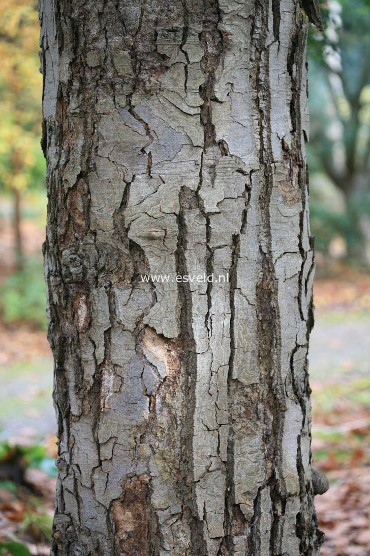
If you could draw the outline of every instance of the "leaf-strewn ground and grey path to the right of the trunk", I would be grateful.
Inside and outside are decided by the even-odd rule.
[[[370,280],[348,272],[314,287],[312,452],[330,480],[315,498],[321,554],[369,556]]]

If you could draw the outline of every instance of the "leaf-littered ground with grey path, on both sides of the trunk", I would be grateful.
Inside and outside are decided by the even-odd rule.
[[[26,252],[39,252],[42,227],[31,217],[22,226]],[[8,261],[0,285],[12,269],[11,237],[0,226],[0,261]],[[370,277],[342,267],[339,276],[315,282],[312,451],[330,480],[316,510],[322,556],[369,556]],[[0,320],[0,548],[4,538],[21,538],[34,556],[48,554],[53,513],[52,375],[45,332]]]

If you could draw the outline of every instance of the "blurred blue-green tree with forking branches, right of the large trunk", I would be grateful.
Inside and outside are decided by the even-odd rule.
[[[322,246],[344,236],[349,257],[370,260],[370,3],[331,0],[323,9],[326,31],[309,41],[311,155],[341,193],[344,214],[315,204]]]

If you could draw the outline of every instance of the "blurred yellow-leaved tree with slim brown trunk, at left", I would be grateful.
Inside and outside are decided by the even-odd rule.
[[[42,77],[37,57],[37,2],[0,2],[0,188],[11,193],[18,269],[23,266],[21,198],[43,186],[39,148]]]

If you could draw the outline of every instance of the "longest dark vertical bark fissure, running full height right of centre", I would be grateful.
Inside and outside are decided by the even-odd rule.
[[[261,6],[262,8],[262,6]],[[273,187],[273,155],[271,146],[271,98],[269,83],[269,52],[263,49],[268,28],[268,6],[261,13],[259,2],[255,3],[256,19],[251,31],[252,59],[256,68],[256,109],[259,113],[260,130],[260,169],[262,186],[259,197],[263,228],[260,235],[260,281],[256,287],[256,312],[258,326],[258,345],[260,362],[260,380],[267,386],[266,393],[260,392],[260,400],[265,408],[263,444],[267,461],[272,462],[272,469],[267,471],[272,476],[282,476],[281,442],[285,420],[285,393],[281,386],[281,335],[280,315],[278,311],[277,281],[272,255],[272,236],[270,226],[270,199]],[[275,6],[276,8],[276,6]],[[278,17],[275,9],[275,27],[277,32]],[[277,37],[276,37],[277,38]],[[263,78],[261,72],[263,71]],[[278,481],[279,488],[271,489],[272,530],[270,537],[271,554],[279,554],[281,544],[281,512],[285,506],[284,486]],[[254,514],[256,519],[256,515]],[[257,549],[257,547],[256,547]]]

